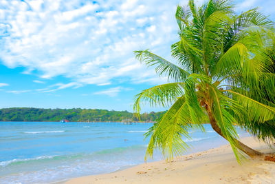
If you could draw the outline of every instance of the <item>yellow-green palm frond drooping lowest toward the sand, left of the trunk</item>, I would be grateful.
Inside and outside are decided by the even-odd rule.
[[[148,143],[145,160],[148,156],[153,158],[153,150],[157,147],[170,161],[174,156],[184,153],[189,147],[182,140],[182,136],[190,139],[188,135],[188,127],[192,127],[190,122],[185,97],[181,96],[162,119],[146,133],[146,137],[151,136],[151,139]]]

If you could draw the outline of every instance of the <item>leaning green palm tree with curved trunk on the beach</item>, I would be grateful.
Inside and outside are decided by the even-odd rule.
[[[245,154],[262,156],[238,141],[234,124],[265,141],[275,137],[275,104],[267,100],[275,92],[272,21],[256,9],[237,15],[226,0],[201,7],[190,0],[188,7],[177,7],[175,17],[179,41],[171,52],[177,63],[149,50],[135,51],[137,59],[169,81],[135,96],[137,114],[143,101],[170,107],[146,133],[151,136],[146,157],[153,157],[156,147],[168,159],[182,154],[188,148],[182,136],[190,138],[190,128],[204,131],[206,119],[230,143],[237,161]]]

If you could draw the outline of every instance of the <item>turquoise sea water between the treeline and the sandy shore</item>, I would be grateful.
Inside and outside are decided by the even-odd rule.
[[[0,183],[50,183],[144,163],[152,123],[0,123]],[[190,130],[192,150],[226,143],[210,125]],[[238,130],[240,136],[245,132]],[[159,152],[154,161],[163,159]]]

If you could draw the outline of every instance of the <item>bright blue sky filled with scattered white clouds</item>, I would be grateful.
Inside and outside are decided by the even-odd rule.
[[[201,5],[202,0],[195,1]],[[275,21],[274,0],[233,1]],[[166,83],[135,59],[169,61],[175,10],[188,0],[0,0],[0,108],[98,108],[133,112],[135,94]],[[144,105],[144,112],[160,111]]]

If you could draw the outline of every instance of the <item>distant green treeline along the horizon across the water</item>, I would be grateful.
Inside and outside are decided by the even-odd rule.
[[[140,116],[140,121],[158,121],[165,112],[150,112]],[[40,108],[3,108],[0,121],[139,121],[128,111],[98,109],[40,109]]]

